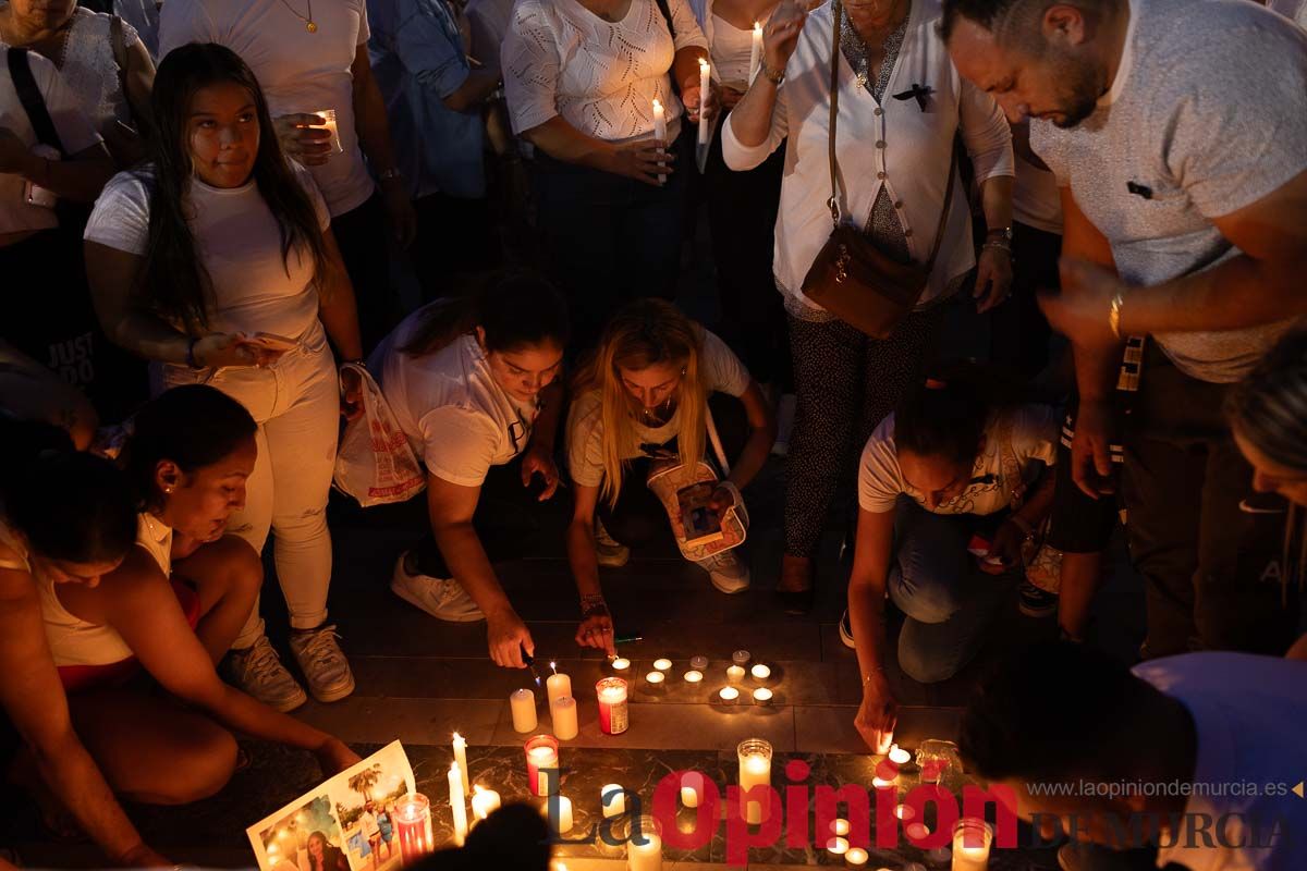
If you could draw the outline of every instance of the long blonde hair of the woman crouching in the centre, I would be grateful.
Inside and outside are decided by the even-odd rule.
[[[622,445],[639,443],[631,402],[620,370],[647,370],[660,363],[680,364],[677,388],[677,452],[682,464],[703,458],[708,392],[701,358],[703,330],[681,309],[661,299],[640,299],[613,316],[578,377],[578,393],[600,392],[604,441],[604,483],[600,496],[609,507],[622,491]]]

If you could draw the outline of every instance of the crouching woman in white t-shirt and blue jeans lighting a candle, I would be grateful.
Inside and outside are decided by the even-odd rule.
[[[856,725],[876,752],[894,729],[885,675],[885,592],[907,620],[898,662],[914,680],[954,675],[975,656],[1017,580],[1021,547],[1052,508],[1057,410],[978,367],[927,381],[872,434],[857,475],[857,546],[840,637],[857,650]],[[1029,495],[1027,495],[1029,491]],[[974,537],[987,552],[972,556]]]

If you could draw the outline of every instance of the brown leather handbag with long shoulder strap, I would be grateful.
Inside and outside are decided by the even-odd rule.
[[[839,168],[835,162],[835,119],[839,114],[839,30],[843,5],[833,5],[835,31],[830,55],[830,217],[834,222],[830,239],[817,253],[802,291],[831,315],[873,338],[887,338],[901,320],[916,307],[925,291],[935,257],[940,253],[944,225],[953,202],[953,159],[949,159],[949,183],[944,195],[940,226],[935,245],[924,264],[901,262],[876,247],[860,229],[840,223]]]

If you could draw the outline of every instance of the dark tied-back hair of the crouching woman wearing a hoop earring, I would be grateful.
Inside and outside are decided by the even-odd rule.
[[[229,457],[259,431],[246,407],[217,388],[183,384],[165,390],[133,418],[127,444],[127,475],[136,498],[158,508],[154,473],[171,460],[186,474]]]

